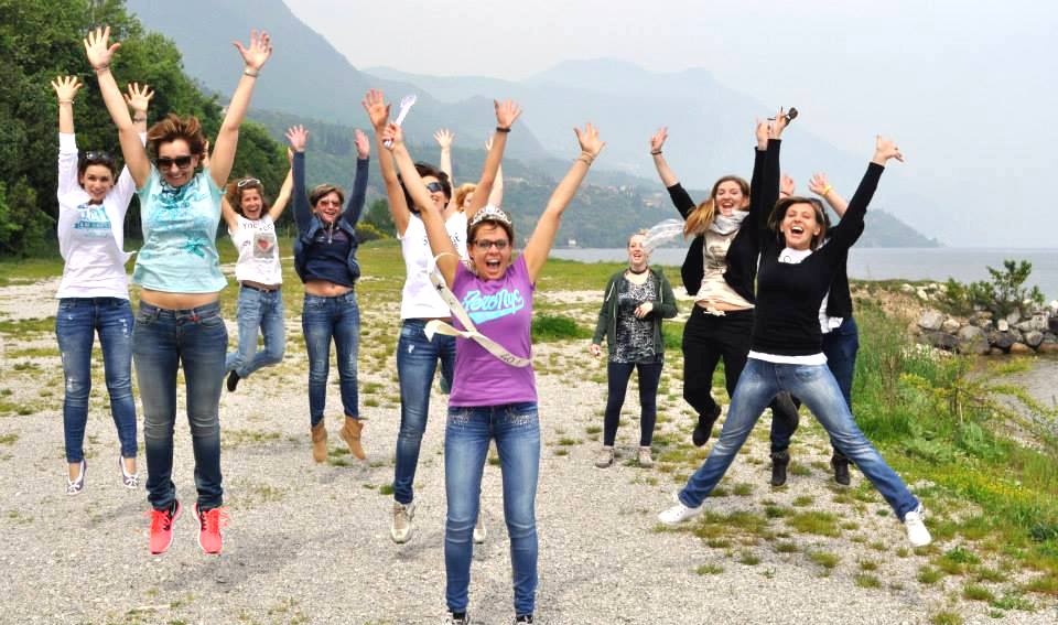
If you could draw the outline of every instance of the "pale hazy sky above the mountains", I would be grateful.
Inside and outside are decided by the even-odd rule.
[[[284,1],[358,68],[519,79],[568,58],[703,67],[811,111],[803,125],[864,158],[874,133],[896,137],[903,175],[965,206],[958,235],[930,233],[946,243],[1058,248],[1055,2]]]

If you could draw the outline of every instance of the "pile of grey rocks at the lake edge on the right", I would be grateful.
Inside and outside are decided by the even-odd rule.
[[[926,302],[942,301],[943,285],[929,284],[902,290]],[[962,354],[1058,354],[1058,300],[1048,305],[1024,302],[1022,310],[997,316],[979,310],[967,316],[927,305],[911,324],[919,343]]]

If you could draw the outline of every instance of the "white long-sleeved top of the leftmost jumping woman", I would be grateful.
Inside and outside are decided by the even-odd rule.
[[[76,138],[58,134],[58,250],[66,263],[56,298],[129,299],[125,263],[132,254],[123,250],[125,214],[134,193],[125,168],[102,204],[90,204],[77,181]]]

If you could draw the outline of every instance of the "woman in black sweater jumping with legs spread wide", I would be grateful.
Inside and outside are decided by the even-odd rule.
[[[876,139],[874,157],[849,202],[842,229],[821,246],[827,223],[818,200],[791,196],[775,204],[779,186],[779,141],[775,137],[768,141],[762,184],[765,191],[754,196],[751,206],[760,245],[753,348],[720,440],[679,493],[676,506],[658,518],[674,525],[704,510],[705,498],[731,466],[767,402],[785,390],[808,406],[838,450],[871,479],[904,522],[911,546],[929,545],[922,505],[856,427],[841,388],[827,368],[819,322],[820,305],[849,248],[862,233],[867,204],[885,164],[890,159],[903,161],[904,157],[893,141]],[[775,209],[769,211],[773,205]]]

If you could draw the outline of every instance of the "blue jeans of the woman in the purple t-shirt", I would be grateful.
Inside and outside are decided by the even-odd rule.
[[[536,403],[482,408],[449,407],[444,431],[445,601],[466,612],[474,554],[474,524],[482,493],[488,442],[496,439],[504,479],[504,519],[510,536],[515,613],[530,614],[537,593],[537,476],[540,472],[540,421]]]

